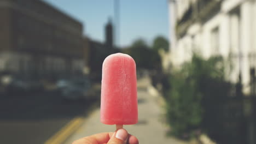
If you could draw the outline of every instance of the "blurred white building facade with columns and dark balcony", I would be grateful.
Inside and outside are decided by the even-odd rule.
[[[250,68],[256,66],[255,0],[169,0],[171,63],[190,61],[193,51],[205,58],[222,55],[233,65],[228,79],[249,93]]]

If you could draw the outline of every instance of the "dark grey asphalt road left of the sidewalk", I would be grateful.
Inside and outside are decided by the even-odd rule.
[[[54,92],[2,97],[0,143],[44,143],[75,116],[86,116],[92,103],[68,103]]]

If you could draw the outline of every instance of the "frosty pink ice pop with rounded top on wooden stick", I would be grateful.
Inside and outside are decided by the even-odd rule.
[[[102,65],[101,122],[138,122],[136,64],[124,53],[109,55]]]

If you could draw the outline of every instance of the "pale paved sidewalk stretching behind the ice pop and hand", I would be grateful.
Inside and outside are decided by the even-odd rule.
[[[135,125],[124,125],[129,133],[135,135],[139,143],[183,143],[166,137],[167,127],[162,123],[163,110],[156,103],[156,97],[148,92],[148,79],[138,81],[138,117]],[[65,143],[71,144],[74,140],[96,133],[115,131],[115,125],[105,125],[100,122],[100,108],[94,110],[82,126]]]

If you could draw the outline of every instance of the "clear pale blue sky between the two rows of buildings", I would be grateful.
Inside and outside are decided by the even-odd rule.
[[[104,25],[114,18],[114,0],[44,0],[84,25],[84,34],[104,41]],[[157,35],[168,38],[167,0],[120,0],[121,46],[143,38],[151,44]]]

